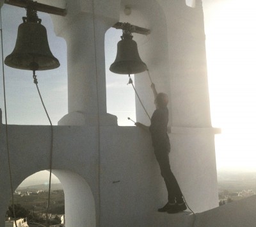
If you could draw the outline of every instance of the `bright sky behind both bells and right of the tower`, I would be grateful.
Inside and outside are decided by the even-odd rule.
[[[203,4],[212,126],[223,130],[216,136],[217,167],[256,169],[256,3],[203,0]],[[25,14],[24,9],[14,6],[4,4],[2,8],[4,58],[13,51],[17,27]],[[67,47],[62,38],[54,35],[49,15],[38,16],[47,27],[51,51],[61,63],[60,68],[37,73],[45,106],[56,125],[67,114]],[[116,29],[112,32],[117,35],[106,34],[106,68],[115,60],[109,53],[116,52],[121,35]],[[8,123],[48,125],[31,72],[10,67],[4,70]],[[135,119],[134,91],[127,86],[128,78],[109,70],[106,73],[108,112],[118,116],[119,125],[133,125],[127,120],[128,116]],[[0,76],[3,81],[3,75]],[[3,82],[0,108],[4,111]]]

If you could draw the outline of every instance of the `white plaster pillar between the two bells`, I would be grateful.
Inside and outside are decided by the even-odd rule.
[[[67,42],[68,114],[59,125],[116,125],[106,113],[104,35],[118,21],[118,4],[68,1],[67,16],[52,16]],[[99,118],[98,118],[99,116]]]

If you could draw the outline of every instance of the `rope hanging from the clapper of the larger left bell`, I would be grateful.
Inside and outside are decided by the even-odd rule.
[[[51,178],[52,178],[52,153],[53,153],[53,127],[52,127],[52,121],[51,118],[49,117],[49,114],[47,112],[47,109],[45,108],[44,101],[42,99],[40,90],[38,88],[38,81],[36,79],[35,71],[33,71],[33,79],[34,83],[36,84],[36,89],[38,91],[38,95],[40,97],[40,100],[42,102],[42,105],[44,107],[44,111],[47,115],[47,118],[49,120],[49,123],[51,125],[51,152],[50,152],[50,176],[49,176],[49,191],[48,191],[48,202],[47,202],[47,209],[46,209],[46,226],[49,227],[49,218],[48,218],[48,213],[49,213],[49,207],[50,207],[50,201],[51,201]]]

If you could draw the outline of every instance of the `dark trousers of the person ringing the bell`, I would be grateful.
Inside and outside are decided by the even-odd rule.
[[[166,189],[168,191],[168,201],[170,203],[177,201],[177,203],[182,203],[182,192],[180,191],[179,184],[173,175],[170,167],[170,160],[168,151],[165,149],[156,149],[154,150],[157,162],[159,163],[161,175],[164,178],[166,184]]]

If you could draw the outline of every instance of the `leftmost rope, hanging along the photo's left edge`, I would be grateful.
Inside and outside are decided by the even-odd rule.
[[[7,149],[7,157],[8,157],[7,159],[8,159],[9,175],[10,175],[10,186],[11,186],[11,192],[12,192],[12,211],[13,211],[15,227],[17,227],[15,208],[14,208],[13,184],[12,184],[12,169],[11,169],[11,163],[10,163],[10,149],[9,149],[9,138],[8,138],[8,121],[7,121],[6,90],[5,90],[5,77],[4,77],[3,27],[2,27],[1,6],[0,6],[0,30],[1,30],[1,48],[2,48],[1,54],[2,54],[2,70],[3,70],[3,90],[4,90],[4,115],[5,115],[6,149]]]

